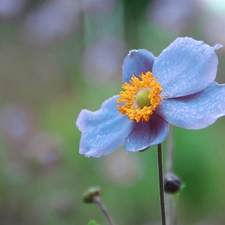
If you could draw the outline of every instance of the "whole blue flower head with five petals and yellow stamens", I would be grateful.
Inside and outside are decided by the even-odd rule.
[[[80,112],[79,152],[101,157],[122,145],[127,152],[143,151],[162,143],[169,124],[197,130],[224,116],[225,84],[214,81],[221,47],[184,37],[158,57],[131,50],[123,64],[124,91],[96,112]]]

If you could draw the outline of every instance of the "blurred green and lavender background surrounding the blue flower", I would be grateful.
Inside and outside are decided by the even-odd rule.
[[[106,224],[82,202],[95,185],[118,225],[159,224],[155,147],[85,158],[75,121],[120,91],[130,49],[158,56],[177,36],[225,45],[224,27],[223,0],[0,0],[0,224]],[[225,224],[224,126],[175,128],[179,224]]]

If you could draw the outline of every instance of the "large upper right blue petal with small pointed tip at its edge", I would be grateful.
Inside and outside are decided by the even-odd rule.
[[[177,38],[155,60],[153,76],[169,98],[186,96],[204,90],[217,73],[216,49],[192,38]]]

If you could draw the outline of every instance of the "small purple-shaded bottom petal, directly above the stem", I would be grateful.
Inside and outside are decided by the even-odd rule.
[[[127,152],[146,150],[152,145],[162,143],[169,130],[169,124],[157,114],[153,114],[149,122],[139,122],[127,137]]]

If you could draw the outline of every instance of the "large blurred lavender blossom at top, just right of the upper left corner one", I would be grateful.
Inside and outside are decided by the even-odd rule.
[[[79,23],[79,0],[48,0],[30,12],[23,31],[28,39],[45,43],[66,37]]]

